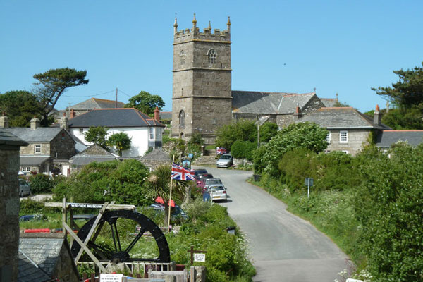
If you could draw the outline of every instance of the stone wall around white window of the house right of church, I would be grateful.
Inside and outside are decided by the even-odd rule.
[[[355,156],[365,145],[369,144],[370,130],[329,130],[331,132],[331,143],[326,151],[346,151]],[[348,142],[340,142],[340,131],[348,131]]]

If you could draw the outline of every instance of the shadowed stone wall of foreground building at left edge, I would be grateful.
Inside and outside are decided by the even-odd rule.
[[[19,244],[19,147],[0,145],[0,281],[17,281]]]

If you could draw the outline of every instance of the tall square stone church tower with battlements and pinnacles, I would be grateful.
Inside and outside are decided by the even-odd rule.
[[[231,21],[227,30],[200,32],[197,20],[192,29],[178,31],[173,39],[172,137],[189,140],[200,133],[213,144],[216,129],[232,120]]]

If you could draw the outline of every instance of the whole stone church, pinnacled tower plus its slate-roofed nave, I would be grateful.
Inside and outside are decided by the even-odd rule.
[[[325,104],[315,92],[249,92],[232,90],[231,20],[226,30],[178,30],[173,37],[173,103],[171,136],[189,140],[200,133],[214,144],[216,130],[233,120],[271,121],[283,128]]]

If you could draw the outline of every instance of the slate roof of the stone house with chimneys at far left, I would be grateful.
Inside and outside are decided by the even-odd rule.
[[[50,142],[56,137],[62,128],[3,128],[3,130],[18,136],[27,142]]]

